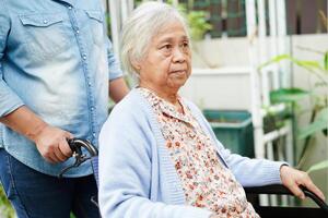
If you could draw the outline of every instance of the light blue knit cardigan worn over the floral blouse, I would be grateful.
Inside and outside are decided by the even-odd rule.
[[[282,162],[233,155],[216,141],[201,111],[184,99],[218,155],[243,186],[281,183]],[[99,208],[104,218],[208,218],[211,211],[186,205],[155,114],[132,89],[112,111],[99,136]]]

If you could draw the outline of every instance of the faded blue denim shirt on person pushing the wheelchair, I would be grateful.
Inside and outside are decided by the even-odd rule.
[[[0,0],[0,117],[25,105],[50,125],[97,145],[108,80],[122,76],[101,0]],[[57,175],[33,142],[0,126],[0,145],[26,166]],[[90,162],[67,177],[92,172]]]

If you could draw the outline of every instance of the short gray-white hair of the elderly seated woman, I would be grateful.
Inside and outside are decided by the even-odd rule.
[[[138,74],[132,61],[142,60],[152,38],[172,22],[180,22],[189,38],[184,16],[169,4],[145,2],[132,12],[124,24],[120,40],[121,63],[127,72]]]

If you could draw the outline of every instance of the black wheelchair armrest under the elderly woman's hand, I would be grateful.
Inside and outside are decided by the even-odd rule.
[[[271,184],[265,186],[255,186],[255,187],[244,187],[247,194],[284,194],[284,195],[294,195],[289,189],[282,184]],[[301,186],[305,196],[312,198],[321,209],[328,213],[328,205],[319,198],[315,193],[307,190],[304,186]]]

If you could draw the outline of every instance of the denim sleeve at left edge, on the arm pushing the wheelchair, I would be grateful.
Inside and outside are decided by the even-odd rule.
[[[3,57],[7,47],[8,34],[10,32],[10,19],[5,2],[0,0],[0,117],[7,116],[21,107],[23,101],[7,85],[3,74]]]

